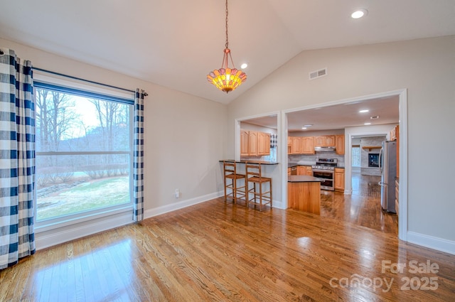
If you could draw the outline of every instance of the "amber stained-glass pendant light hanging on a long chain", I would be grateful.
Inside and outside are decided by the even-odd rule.
[[[228,67],[228,59],[232,63],[232,68]],[[230,92],[239,87],[242,82],[247,80],[247,75],[242,70],[237,70],[232,61],[228,41],[228,0],[226,0],[226,48],[223,55],[223,63],[220,69],[215,69],[207,75],[208,82],[212,83],[223,92]]]

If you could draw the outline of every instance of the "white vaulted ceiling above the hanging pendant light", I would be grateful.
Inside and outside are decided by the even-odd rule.
[[[1,38],[223,104],[302,50],[455,34],[454,0],[230,0],[232,58],[249,67],[245,84],[226,95],[206,80],[223,58],[223,0],[0,0],[0,7]],[[368,16],[350,18],[358,8]]]

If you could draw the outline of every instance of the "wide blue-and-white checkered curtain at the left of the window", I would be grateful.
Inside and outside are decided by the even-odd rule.
[[[35,101],[31,62],[0,48],[0,269],[35,253]]]

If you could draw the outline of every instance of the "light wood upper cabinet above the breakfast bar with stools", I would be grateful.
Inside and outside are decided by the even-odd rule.
[[[270,154],[270,134],[240,130],[240,156],[264,156]]]

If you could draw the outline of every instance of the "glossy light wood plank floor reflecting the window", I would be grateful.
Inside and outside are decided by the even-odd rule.
[[[0,301],[454,301],[455,256],[344,207],[353,222],[217,198],[38,251],[0,271]]]

